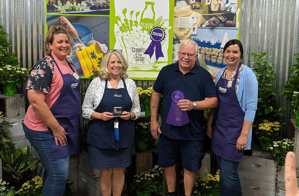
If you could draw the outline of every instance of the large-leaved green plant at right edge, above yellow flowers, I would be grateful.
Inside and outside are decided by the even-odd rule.
[[[299,127],[299,103],[298,103],[298,92],[299,92],[299,53],[294,54],[296,64],[292,65],[290,70],[290,77],[282,86],[281,95],[285,96],[284,102],[289,101],[289,108],[295,113],[296,126]],[[295,95],[296,94],[296,95]]]

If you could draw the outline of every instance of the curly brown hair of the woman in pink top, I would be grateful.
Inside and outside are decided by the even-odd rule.
[[[69,55],[71,54],[71,49],[72,47],[74,46],[74,40],[71,39],[70,35],[68,34],[67,30],[61,26],[61,25],[56,25],[56,26],[51,26],[49,29],[48,29],[48,32],[47,32],[47,35],[46,35],[46,38],[45,38],[45,42],[44,42],[44,51],[47,55],[51,55],[51,52],[52,50],[50,49],[49,47],[49,43],[53,43],[54,41],[54,36],[57,35],[57,34],[66,34],[69,41],[70,41],[70,45],[71,45],[71,48],[70,48],[70,53]]]

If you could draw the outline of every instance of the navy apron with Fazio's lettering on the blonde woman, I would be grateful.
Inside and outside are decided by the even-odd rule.
[[[113,107],[123,107],[123,111],[130,112],[132,109],[132,100],[128,94],[126,83],[124,88],[107,88],[107,80],[103,98],[95,109],[96,112],[111,112]],[[114,121],[118,121],[119,141],[114,135]],[[127,148],[133,144],[134,122],[133,120],[124,120],[121,117],[114,117],[110,120],[92,119],[89,121],[87,143],[92,146],[103,149]]]

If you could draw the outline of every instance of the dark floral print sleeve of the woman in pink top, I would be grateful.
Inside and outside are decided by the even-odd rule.
[[[49,87],[54,74],[54,62],[49,58],[39,60],[32,67],[27,77],[26,90],[38,89],[49,94]]]

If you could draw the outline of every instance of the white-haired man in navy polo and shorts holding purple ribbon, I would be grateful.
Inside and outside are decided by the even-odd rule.
[[[179,155],[184,168],[185,195],[191,196],[195,172],[200,169],[204,158],[204,110],[217,107],[218,98],[211,74],[196,64],[197,44],[194,41],[186,39],[181,42],[178,58],[177,63],[161,69],[153,86],[150,130],[155,139],[158,138],[158,132],[161,133],[158,144],[158,165],[164,167],[169,196],[177,195],[175,164]],[[172,100],[174,92],[184,94],[184,99],[175,103]],[[160,128],[157,111],[162,94]],[[182,113],[187,113],[189,123],[185,122],[187,123],[185,124],[186,119],[184,119],[182,126],[169,124],[167,119],[175,116],[171,109],[172,102]],[[179,121],[180,118],[174,118],[175,120]]]

